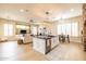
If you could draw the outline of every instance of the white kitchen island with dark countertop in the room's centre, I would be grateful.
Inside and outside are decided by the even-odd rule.
[[[42,54],[50,52],[57,44],[57,36],[33,36],[33,49]]]

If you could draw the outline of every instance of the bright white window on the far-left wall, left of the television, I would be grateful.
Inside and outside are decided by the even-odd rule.
[[[13,35],[13,25],[4,24],[4,36],[12,36],[12,35]]]

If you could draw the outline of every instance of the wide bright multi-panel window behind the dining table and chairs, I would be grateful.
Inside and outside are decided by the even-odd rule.
[[[64,34],[77,37],[78,36],[78,23],[67,23],[58,25],[58,35]]]

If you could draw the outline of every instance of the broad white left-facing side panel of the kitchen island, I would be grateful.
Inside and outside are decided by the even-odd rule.
[[[33,49],[45,54],[46,53],[46,40],[33,37]]]

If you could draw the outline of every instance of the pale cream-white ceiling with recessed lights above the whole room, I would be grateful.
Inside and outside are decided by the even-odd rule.
[[[81,3],[2,3],[0,4],[0,17],[21,22],[58,21],[82,15],[82,5]],[[27,12],[21,12],[21,9]],[[49,12],[49,15],[46,15],[46,12]]]

